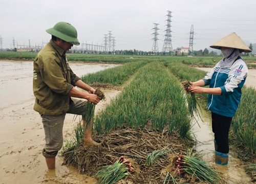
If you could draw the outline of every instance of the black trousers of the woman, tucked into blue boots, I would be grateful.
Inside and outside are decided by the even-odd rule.
[[[228,132],[232,118],[221,116],[217,113],[211,112],[211,126],[214,132],[215,141],[218,145],[218,152],[228,153]]]

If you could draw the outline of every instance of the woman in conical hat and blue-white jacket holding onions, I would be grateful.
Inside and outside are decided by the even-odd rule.
[[[241,53],[251,50],[236,33],[227,35],[210,47],[220,49],[224,58],[203,79],[193,82],[189,89],[192,93],[209,94],[208,109],[211,111],[215,136],[215,162],[227,165],[229,127],[241,100],[241,88],[248,73]],[[209,88],[202,87],[206,85]]]

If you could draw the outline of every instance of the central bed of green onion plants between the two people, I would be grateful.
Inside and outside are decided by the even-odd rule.
[[[151,123],[154,130],[167,128],[170,134],[177,131],[184,138],[190,119],[182,90],[177,78],[162,63],[148,63],[118,98],[96,116],[96,131],[109,132],[124,125],[139,129]]]

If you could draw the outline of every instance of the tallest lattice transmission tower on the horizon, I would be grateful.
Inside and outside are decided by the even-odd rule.
[[[169,51],[173,51],[173,45],[172,45],[172,35],[170,34],[172,31],[170,30],[170,22],[172,22],[172,20],[170,19],[172,17],[172,13],[171,11],[167,11],[168,14],[167,16],[167,25],[166,25],[166,30],[165,30],[165,38],[164,38],[164,43],[163,43],[163,49],[162,52],[167,53]]]

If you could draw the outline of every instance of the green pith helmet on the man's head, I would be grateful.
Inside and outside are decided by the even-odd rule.
[[[80,44],[75,27],[68,22],[58,22],[53,28],[47,29],[46,32],[74,45]]]

